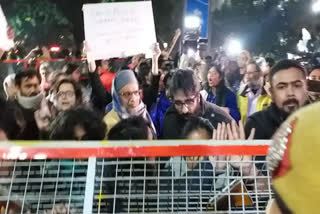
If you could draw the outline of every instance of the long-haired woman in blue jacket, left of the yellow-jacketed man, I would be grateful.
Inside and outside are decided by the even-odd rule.
[[[237,106],[237,96],[226,86],[224,74],[218,66],[212,66],[208,72],[208,86],[200,93],[202,97],[220,106],[227,114],[230,114],[236,121],[240,120],[240,112]]]

